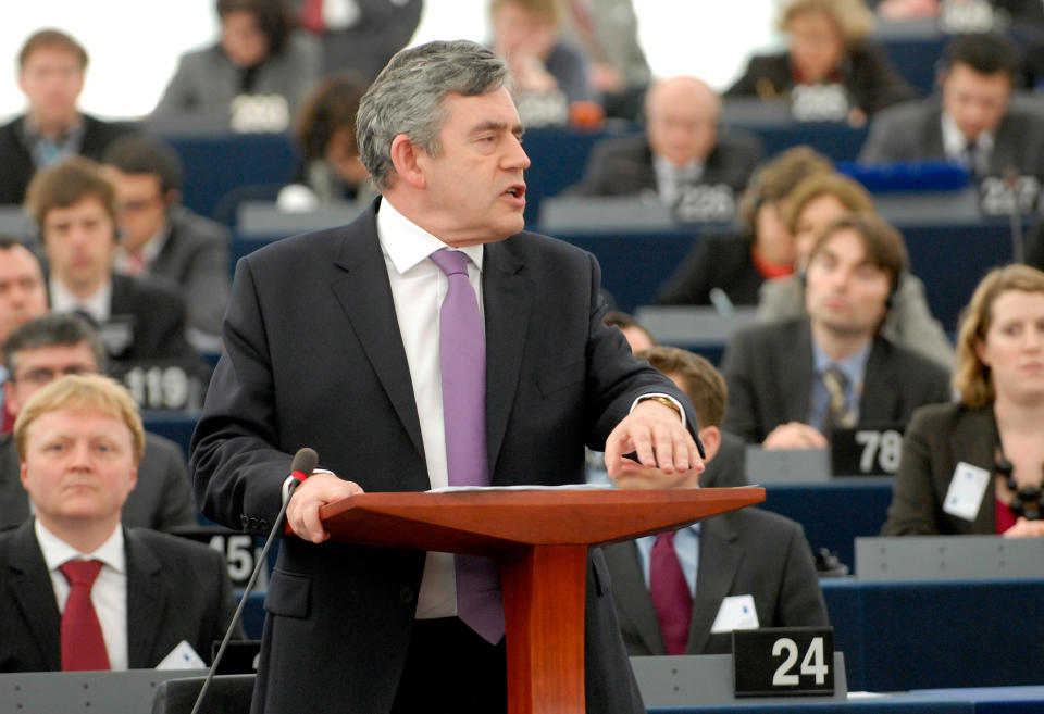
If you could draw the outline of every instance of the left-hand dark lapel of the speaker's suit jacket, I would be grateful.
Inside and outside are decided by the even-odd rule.
[[[333,285],[337,300],[359,337],[370,365],[376,373],[418,453],[424,454],[421,423],[413,400],[410,366],[395,315],[388,270],[377,240],[376,213],[347,228],[336,264],[345,276]]]

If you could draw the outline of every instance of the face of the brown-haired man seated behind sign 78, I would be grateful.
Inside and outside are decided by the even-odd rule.
[[[805,303],[813,325],[846,337],[874,334],[884,317],[888,275],[870,262],[862,237],[834,233],[809,260]]]

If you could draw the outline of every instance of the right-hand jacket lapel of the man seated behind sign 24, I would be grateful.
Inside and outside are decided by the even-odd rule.
[[[696,567],[696,597],[693,598],[693,624],[688,630],[688,654],[700,654],[710,639],[710,628],[722,599],[743,560],[743,549],[734,546],[736,531],[723,518],[707,518],[699,528],[699,564]]]

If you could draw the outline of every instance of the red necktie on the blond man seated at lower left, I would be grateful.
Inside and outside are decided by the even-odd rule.
[[[101,571],[101,561],[69,561],[59,569],[70,585],[62,613],[62,672],[109,669],[101,624],[90,602],[90,588]]]

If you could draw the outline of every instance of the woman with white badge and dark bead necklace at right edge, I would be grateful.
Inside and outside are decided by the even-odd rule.
[[[1044,273],[991,271],[957,337],[960,401],[917,410],[882,535],[1044,536]]]

